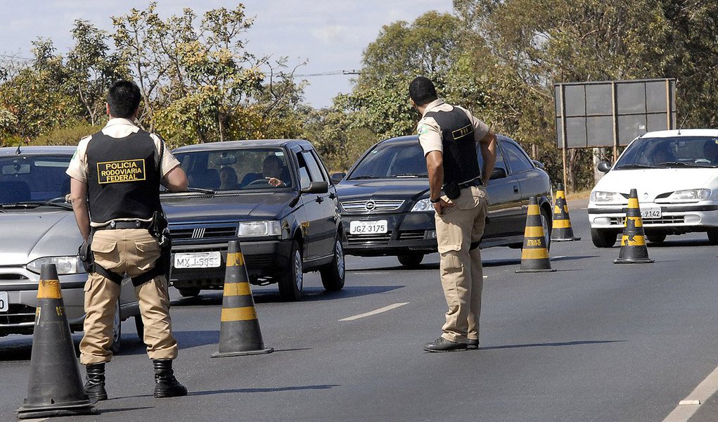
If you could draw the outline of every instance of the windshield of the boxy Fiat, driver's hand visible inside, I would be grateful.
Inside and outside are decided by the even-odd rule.
[[[190,188],[220,192],[293,186],[283,149],[177,151],[174,156],[180,160],[180,166],[187,173]]]

